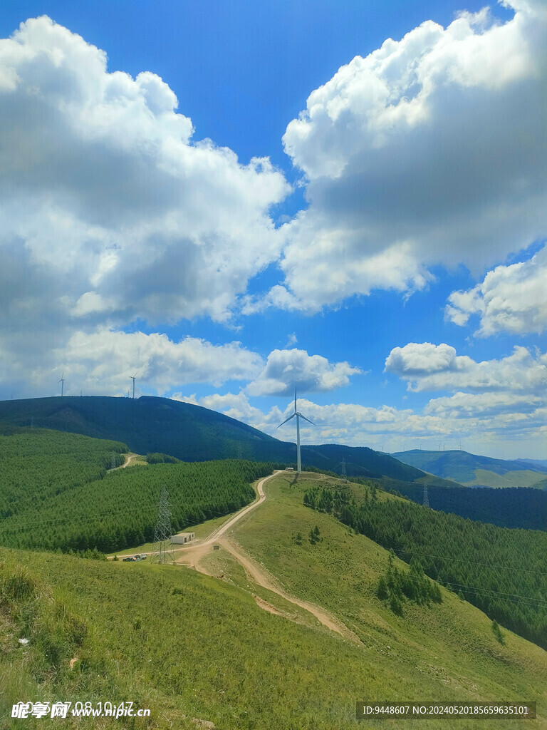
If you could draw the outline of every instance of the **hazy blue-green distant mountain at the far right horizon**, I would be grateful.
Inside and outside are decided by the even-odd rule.
[[[403,464],[422,469],[468,487],[535,487],[547,485],[547,461],[476,456],[467,451],[399,451],[392,456]]]

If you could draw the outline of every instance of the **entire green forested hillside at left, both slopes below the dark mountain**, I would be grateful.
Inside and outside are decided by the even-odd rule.
[[[163,485],[176,531],[235,512],[273,464],[242,460],[113,469],[119,442],[26,429],[0,437],[0,545],[103,552],[150,542]]]

